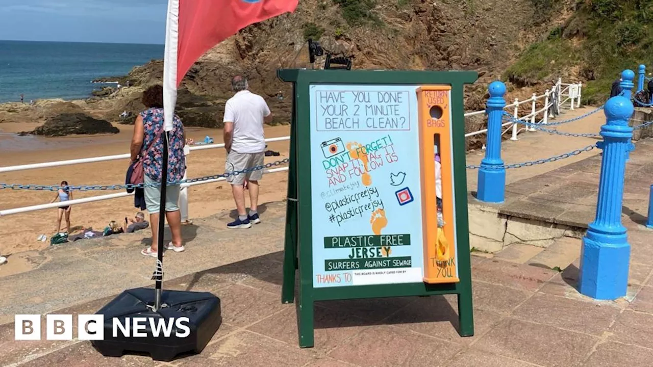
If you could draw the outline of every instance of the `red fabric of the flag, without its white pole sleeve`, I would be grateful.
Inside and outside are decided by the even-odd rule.
[[[204,52],[247,25],[293,12],[298,0],[181,0],[177,86]]]

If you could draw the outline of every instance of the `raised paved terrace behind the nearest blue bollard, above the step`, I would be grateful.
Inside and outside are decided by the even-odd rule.
[[[587,228],[596,214],[601,155],[593,155],[545,174],[509,183],[518,195],[498,206],[500,214]],[[642,225],[653,184],[653,139],[639,140],[626,163],[624,222]]]

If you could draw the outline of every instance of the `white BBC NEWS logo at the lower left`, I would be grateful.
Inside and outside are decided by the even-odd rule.
[[[104,340],[104,315],[78,315],[78,340]],[[188,317],[163,319],[160,317],[112,318],[112,337],[118,338],[186,338],[191,334]],[[151,334],[148,333],[148,326]],[[46,340],[72,340],[72,315],[46,315]],[[173,333],[174,330],[174,333]],[[15,340],[40,340],[41,315],[16,315]]]

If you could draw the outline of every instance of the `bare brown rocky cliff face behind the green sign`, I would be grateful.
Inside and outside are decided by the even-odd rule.
[[[321,32],[315,38],[325,50],[355,56],[355,69],[479,71],[479,82],[465,91],[467,110],[485,107],[487,83],[500,77],[520,48],[528,45],[523,39],[534,40],[549,26],[547,22],[532,25],[536,15],[532,0],[379,0],[371,11],[376,24],[351,25],[340,6],[305,0],[294,14],[251,25],[221,42],[182,81],[177,110],[184,124],[219,127],[221,119],[216,120],[215,114],[223,112],[223,104],[232,96],[229,81],[235,74],[246,75],[250,89],[266,98],[276,121],[288,123],[291,85],[278,80],[276,71],[311,68],[306,24],[319,25]],[[505,14],[511,14],[509,22],[496,22]],[[318,57],[315,67],[323,67],[324,59]],[[119,80],[146,88],[161,83],[162,75],[163,61],[153,60]],[[285,99],[277,98],[279,91]],[[182,93],[195,97],[184,102]]]

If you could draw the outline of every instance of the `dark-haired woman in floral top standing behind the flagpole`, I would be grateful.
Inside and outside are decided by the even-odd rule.
[[[161,165],[163,164],[163,87],[151,86],[143,92],[141,102],[148,108],[144,110],[134,123],[134,135],[131,142],[131,160],[136,161],[143,157],[143,176],[146,187],[144,188],[145,203],[150,212],[152,231],[152,244],[141,251],[141,255],[157,257],[159,234],[159,201],[161,200]],[[183,154],[185,135],[182,120],[174,116],[172,131],[168,135],[168,172],[167,182],[180,182],[186,171],[186,159]],[[165,212],[172,241],[165,248],[175,252],[184,250],[182,244],[182,219],[179,211],[180,185],[168,185],[166,189]],[[163,251],[163,250],[162,250]]]

